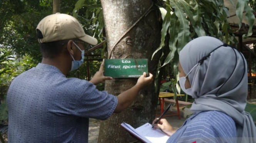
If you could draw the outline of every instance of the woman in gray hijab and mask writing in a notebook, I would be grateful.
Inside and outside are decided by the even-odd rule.
[[[214,37],[196,38],[181,50],[179,72],[181,89],[195,100],[194,114],[177,131],[165,119],[154,124],[171,136],[167,143],[256,143],[256,127],[244,111],[247,64],[238,50]]]

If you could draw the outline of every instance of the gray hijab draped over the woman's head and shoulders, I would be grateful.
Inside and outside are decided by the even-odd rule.
[[[221,45],[220,40],[203,36],[189,42],[179,54],[186,74],[198,64],[188,75],[195,99],[191,111],[224,112],[236,122],[238,143],[256,143],[256,127],[251,115],[244,111],[248,91],[246,60],[237,50]],[[202,64],[198,63],[205,56]]]

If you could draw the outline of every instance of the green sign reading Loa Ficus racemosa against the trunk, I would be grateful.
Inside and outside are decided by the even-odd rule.
[[[148,73],[147,59],[106,59],[105,76],[112,78],[138,78]]]

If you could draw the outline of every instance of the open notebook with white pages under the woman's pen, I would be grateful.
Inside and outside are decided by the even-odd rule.
[[[121,123],[121,126],[143,143],[166,143],[169,138],[169,136],[161,130],[154,130],[150,123],[145,123],[136,129],[125,122]]]

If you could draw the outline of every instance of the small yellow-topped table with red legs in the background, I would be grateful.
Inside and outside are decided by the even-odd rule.
[[[177,96],[185,96],[185,95],[184,94],[177,94]],[[168,92],[160,92],[159,93],[158,98],[159,98],[160,107],[161,107],[161,114],[164,112],[164,98],[169,98],[169,97],[174,97],[174,93],[168,93]],[[176,98],[176,106],[177,106],[177,113],[172,112],[172,114],[163,115],[163,117],[177,115],[179,117],[179,119],[181,119],[181,115],[180,115],[180,112],[179,112],[178,98]],[[160,116],[160,115],[157,115],[157,116]]]

